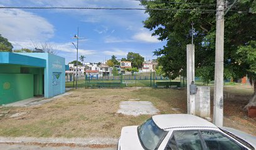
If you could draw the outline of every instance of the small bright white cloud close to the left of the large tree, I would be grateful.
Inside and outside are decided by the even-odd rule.
[[[155,36],[151,36],[151,33],[147,31],[139,32],[135,34],[132,38],[136,39],[137,41],[143,42],[161,42]]]

